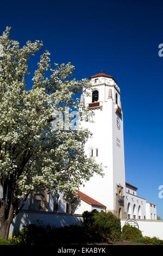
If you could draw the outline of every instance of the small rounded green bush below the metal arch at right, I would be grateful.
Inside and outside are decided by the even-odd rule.
[[[133,227],[129,224],[123,226],[122,228],[123,240],[139,239],[141,237],[142,237],[142,232],[138,228]]]

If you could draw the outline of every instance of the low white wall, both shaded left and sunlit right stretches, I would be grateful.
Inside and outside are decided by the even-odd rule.
[[[123,227],[125,222],[126,220],[121,220],[121,227]],[[139,229],[142,231],[143,236],[156,236],[163,240],[163,221],[136,220],[136,222],[139,224]],[[55,227],[64,227],[65,225],[70,224],[82,225],[83,217],[79,214],[55,214],[53,212],[35,212],[23,210],[12,221],[9,236],[14,234],[16,231],[21,230],[23,225],[30,223],[36,225],[51,224]]]

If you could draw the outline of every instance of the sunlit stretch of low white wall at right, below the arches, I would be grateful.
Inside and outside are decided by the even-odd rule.
[[[126,220],[121,220],[121,227],[123,227]],[[136,220],[139,224],[139,229],[143,236],[156,236],[163,240],[163,221],[155,220]]]

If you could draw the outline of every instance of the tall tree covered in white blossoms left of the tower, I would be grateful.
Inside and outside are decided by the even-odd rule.
[[[70,63],[55,64],[52,69],[45,51],[37,63],[32,89],[27,90],[27,61],[42,42],[27,41],[20,48],[9,32],[7,27],[0,37],[0,221],[4,239],[30,192],[64,192],[68,200],[94,172],[102,174],[101,166],[84,153],[90,132],[56,129],[52,123],[56,110],[84,109],[75,95],[89,88],[89,82],[71,80],[74,67]],[[47,72],[51,73],[48,77]]]

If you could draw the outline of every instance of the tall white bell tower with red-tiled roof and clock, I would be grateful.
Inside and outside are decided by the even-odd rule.
[[[123,113],[121,93],[115,79],[100,74],[90,77],[92,93],[83,94],[83,102],[95,113],[94,123],[82,122],[93,137],[85,145],[85,152],[102,163],[104,177],[94,175],[80,191],[101,202],[106,211],[126,218],[126,180],[124,168]]]

